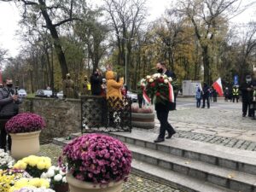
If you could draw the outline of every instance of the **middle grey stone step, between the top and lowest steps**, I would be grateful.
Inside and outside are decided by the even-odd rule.
[[[135,160],[242,192],[256,191],[256,176],[126,143]]]

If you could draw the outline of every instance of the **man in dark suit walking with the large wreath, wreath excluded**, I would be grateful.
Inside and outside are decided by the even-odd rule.
[[[159,62],[156,64],[156,69],[158,73],[166,74],[167,77],[173,77],[173,73],[166,69],[164,62]],[[154,104],[154,109],[156,110],[157,119],[160,121],[160,134],[154,143],[160,143],[165,141],[166,131],[168,136],[166,139],[170,139],[176,131],[173,129],[172,125],[168,122],[168,114],[170,110],[171,103],[166,101],[165,104],[158,102]]]

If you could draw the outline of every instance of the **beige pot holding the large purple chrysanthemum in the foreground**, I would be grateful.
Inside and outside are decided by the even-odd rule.
[[[71,173],[67,173],[66,178],[70,192],[121,192],[124,183],[124,181],[119,181],[100,186],[100,184],[80,181]]]

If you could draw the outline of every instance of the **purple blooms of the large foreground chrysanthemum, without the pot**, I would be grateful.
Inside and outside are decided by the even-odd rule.
[[[131,171],[131,151],[118,139],[102,134],[75,138],[64,147],[63,155],[73,176],[83,181],[118,182]]]

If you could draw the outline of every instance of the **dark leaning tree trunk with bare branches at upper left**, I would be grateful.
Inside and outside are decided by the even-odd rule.
[[[41,25],[49,30],[49,33],[53,39],[56,55],[60,62],[62,78],[68,73],[67,61],[64,55],[64,51],[61,47],[61,40],[59,38],[59,32],[57,28],[67,22],[73,20],[79,20],[73,17],[73,9],[79,8],[79,1],[67,0],[67,1],[51,1],[46,4],[45,0],[1,0],[3,2],[16,2],[18,5],[23,4],[23,19],[34,21],[34,26]],[[22,5],[21,4],[21,5]],[[40,23],[39,19],[43,16],[44,22]],[[64,19],[63,19],[64,18]]]

